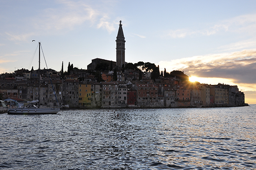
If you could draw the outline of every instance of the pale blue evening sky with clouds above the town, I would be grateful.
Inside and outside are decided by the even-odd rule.
[[[120,20],[126,62],[238,85],[256,104],[255,0],[1,0],[0,73],[37,69],[38,42],[57,71],[62,61],[64,70],[68,62],[86,69],[95,58],[116,61]]]

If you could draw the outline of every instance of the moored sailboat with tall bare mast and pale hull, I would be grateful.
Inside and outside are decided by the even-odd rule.
[[[40,45],[41,45],[41,43],[39,42],[38,107],[35,105],[28,105],[28,107],[16,107],[16,108],[8,109],[8,114],[56,114],[56,113],[58,113],[58,111],[60,111],[60,108],[40,108],[40,103],[39,103],[39,97],[40,97]]]

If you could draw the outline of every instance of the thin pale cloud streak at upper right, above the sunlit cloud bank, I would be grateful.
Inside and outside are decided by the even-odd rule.
[[[238,33],[249,33],[254,35],[256,32],[256,14],[248,14],[237,16],[228,20],[220,21],[206,29],[191,30],[191,29],[176,29],[169,30],[167,35],[172,38],[184,38],[191,35],[214,35],[220,31],[230,31]]]

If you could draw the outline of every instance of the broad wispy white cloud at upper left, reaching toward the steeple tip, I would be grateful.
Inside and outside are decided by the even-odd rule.
[[[37,10],[38,14],[24,18],[19,32],[5,31],[10,41],[27,41],[32,36],[56,35],[76,29],[78,26],[95,26],[115,31],[114,21],[100,5],[93,7],[84,1],[55,0],[54,6]]]

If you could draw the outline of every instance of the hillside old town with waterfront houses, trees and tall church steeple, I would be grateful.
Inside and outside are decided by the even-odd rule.
[[[22,68],[0,75],[0,99],[24,107],[223,107],[245,106],[238,86],[190,82],[182,71],[159,72],[153,63],[126,63],[120,21],[116,62],[92,59],[87,69],[68,64],[68,71]],[[40,82],[40,86],[38,86]]]

